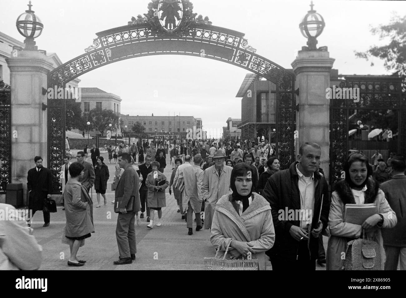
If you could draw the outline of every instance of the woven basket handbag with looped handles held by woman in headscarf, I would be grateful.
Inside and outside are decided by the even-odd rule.
[[[231,241],[227,245],[227,249],[224,253],[222,259],[220,259],[220,244],[217,248],[216,255],[214,257],[204,258],[204,269],[205,270],[258,270],[258,260],[257,259],[225,259]]]

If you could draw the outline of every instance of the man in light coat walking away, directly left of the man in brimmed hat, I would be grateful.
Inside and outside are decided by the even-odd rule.
[[[194,165],[192,167],[185,167],[183,170],[185,190],[182,198],[183,212],[187,209],[187,225],[189,229],[188,235],[193,234],[193,213],[196,218],[196,231],[202,229],[202,221],[200,217],[201,204],[203,202],[202,182],[203,170],[200,168],[202,157],[196,154],[193,158]]]

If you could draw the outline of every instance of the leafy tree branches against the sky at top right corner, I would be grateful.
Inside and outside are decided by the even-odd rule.
[[[379,39],[390,39],[388,45],[378,47],[374,45],[365,52],[355,52],[357,58],[364,58],[368,61],[371,56],[384,59],[384,67],[392,71],[392,75],[403,76],[403,91],[406,91],[406,15],[399,17],[395,15],[389,25],[380,25],[372,28],[371,33],[379,34]],[[373,66],[371,62],[371,66]]]

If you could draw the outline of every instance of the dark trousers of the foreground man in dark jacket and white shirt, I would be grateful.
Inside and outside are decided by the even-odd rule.
[[[307,241],[299,242],[297,260],[285,260],[277,256],[272,256],[270,259],[272,270],[274,271],[300,272],[316,270],[315,260],[310,259],[310,252],[307,248]]]

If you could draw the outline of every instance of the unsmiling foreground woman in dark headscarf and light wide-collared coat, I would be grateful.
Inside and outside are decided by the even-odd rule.
[[[274,244],[275,230],[269,203],[253,193],[255,174],[244,163],[235,165],[230,179],[232,193],[217,202],[210,241],[222,252],[230,244],[227,259],[246,258],[251,253],[258,259],[259,270],[265,270],[265,252]]]

